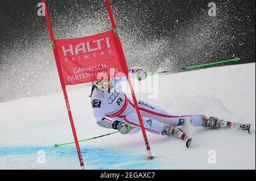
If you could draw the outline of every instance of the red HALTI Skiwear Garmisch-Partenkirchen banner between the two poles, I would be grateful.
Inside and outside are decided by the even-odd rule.
[[[126,61],[120,56],[113,30],[77,39],[54,40],[54,43],[56,63],[64,85],[126,74]]]

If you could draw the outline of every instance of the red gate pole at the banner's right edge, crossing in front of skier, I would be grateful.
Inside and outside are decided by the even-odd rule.
[[[105,0],[105,3],[106,3],[106,6],[108,8],[109,17],[110,17],[110,21],[111,21],[111,24],[112,24],[112,28],[114,30],[115,38],[117,38],[117,43],[119,44],[119,47],[121,48],[122,45],[121,45],[121,41],[119,40],[117,27],[115,26],[115,21],[114,21],[113,13],[112,13],[112,10],[111,10],[110,4],[109,4],[109,0]],[[120,50],[121,50],[121,56],[125,59],[125,54],[123,53],[123,49],[121,48]],[[128,69],[127,64],[125,66],[126,66],[126,69]],[[147,138],[147,134],[146,134],[143,122],[142,122],[141,112],[139,112],[139,106],[138,106],[138,103],[137,103],[137,99],[135,97],[135,93],[134,93],[134,90],[133,90],[133,85],[131,84],[130,75],[127,73],[126,77],[127,77],[127,81],[129,82],[131,95],[133,96],[134,105],[135,105],[137,115],[138,115],[138,118],[139,118],[139,124],[141,125],[141,130],[142,130],[144,142],[145,142],[146,149],[147,149],[147,152],[148,152],[148,158],[152,159],[154,157],[152,156],[150,145],[149,145],[148,138]]]

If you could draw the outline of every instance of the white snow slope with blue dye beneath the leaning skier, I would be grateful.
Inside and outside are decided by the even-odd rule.
[[[162,75],[155,89],[157,99],[141,93],[137,99],[177,115],[251,123],[251,134],[187,125],[193,137],[187,149],[183,141],[147,133],[152,161],[145,160],[141,132],[112,134],[81,142],[86,169],[255,169],[255,63]],[[68,91],[79,140],[113,132],[96,124],[89,92],[89,86]],[[80,169],[75,145],[53,146],[67,141],[73,136],[63,94],[0,103],[0,169]],[[214,161],[212,150],[216,163],[208,162]]]

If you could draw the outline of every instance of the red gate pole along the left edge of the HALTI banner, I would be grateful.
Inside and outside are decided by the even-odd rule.
[[[49,20],[49,14],[48,14],[48,10],[47,10],[46,0],[42,0],[42,2],[44,3],[44,7],[45,7],[44,10],[46,12],[46,22],[47,22],[47,26],[48,26],[48,30],[49,30],[49,35],[50,35],[51,41],[52,41],[53,53],[54,53],[55,59],[57,59],[57,58],[59,58],[59,56],[58,56],[58,54],[56,52],[56,48],[55,48],[53,31],[52,31],[52,27],[51,27],[51,22]],[[70,123],[71,123],[73,136],[74,136],[75,143],[76,143],[76,150],[77,150],[77,154],[79,156],[80,166],[81,166],[81,169],[84,170],[85,169],[84,161],[82,160],[82,153],[81,153],[81,150],[80,150],[79,141],[77,139],[77,134],[76,134],[75,124],[74,124],[72,113],[71,113],[71,108],[69,106],[68,95],[67,95],[66,87],[63,83],[63,77],[62,77],[62,74],[61,74],[61,69],[60,69],[60,66],[57,64],[57,61],[56,61],[56,65],[57,65],[57,70],[58,70],[58,73],[59,73],[61,87],[63,89],[63,94],[64,94],[65,103],[66,103],[67,110],[68,110],[68,116],[69,116],[69,120],[70,120]]]

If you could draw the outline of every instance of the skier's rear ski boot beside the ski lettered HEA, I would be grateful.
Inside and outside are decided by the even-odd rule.
[[[203,125],[202,127],[204,128],[229,128],[230,127],[230,122],[228,121],[224,121],[224,120],[220,120],[217,117],[207,117],[204,115],[200,116],[201,119],[203,120]]]

